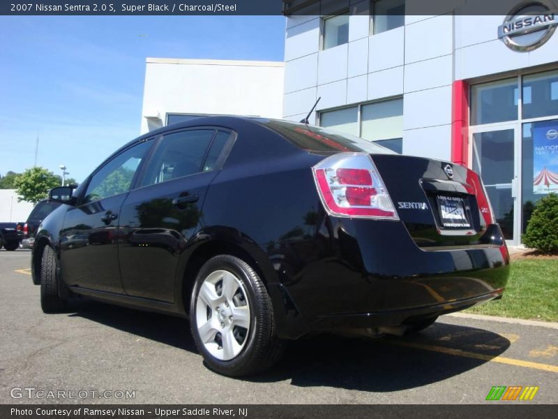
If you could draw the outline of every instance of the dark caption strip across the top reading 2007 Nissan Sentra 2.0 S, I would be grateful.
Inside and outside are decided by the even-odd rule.
[[[543,24],[556,23],[554,1],[557,0],[544,0],[550,13],[541,17]],[[370,3],[349,0],[3,0],[0,1],[0,15],[371,15]],[[376,14],[507,15],[518,3],[521,1],[406,0],[394,1],[391,7],[376,10]],[[535,23],[536,16],[531,20],[529,25]],[[519,30],[524,22],[510,24],[506,28]]]

